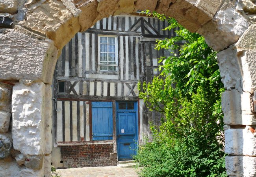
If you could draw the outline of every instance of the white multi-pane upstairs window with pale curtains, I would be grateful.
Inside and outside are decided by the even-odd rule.
[[[99,36],[99,68],[100,71],[117,71],[117,37]]]

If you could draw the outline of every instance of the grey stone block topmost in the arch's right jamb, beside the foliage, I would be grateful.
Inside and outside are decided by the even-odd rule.
[[[217,54],[217,57],[224,88],[231,90],[241,87],[240,68],[233,50],[231,48],[223,50]]]

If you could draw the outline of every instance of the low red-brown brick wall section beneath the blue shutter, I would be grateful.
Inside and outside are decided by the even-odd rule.
[[[63,168],[115,166],[117,155],[114,144],[85,144],[61,146]]]

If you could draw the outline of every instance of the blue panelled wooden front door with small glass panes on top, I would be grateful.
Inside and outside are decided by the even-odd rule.
[[[117,102],[118,160],[130,160],[137,152],[137,102]]]

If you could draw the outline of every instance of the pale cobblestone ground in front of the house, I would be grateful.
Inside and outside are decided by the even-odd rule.
[[[56,172],[61,177],[138,177],[134,168],[117,166],[67,168]]]

